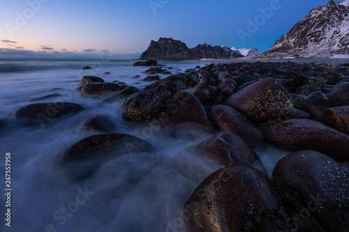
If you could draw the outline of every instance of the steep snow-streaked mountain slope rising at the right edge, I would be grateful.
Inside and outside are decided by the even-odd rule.
[[[330,57],[349,54],[349,0],[314,8],[264,56]]]

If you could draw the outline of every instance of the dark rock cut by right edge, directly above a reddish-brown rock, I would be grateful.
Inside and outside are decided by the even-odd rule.
[[[349,82],[336,84],[330,93],[326,94],[332,107],[349,105]]]

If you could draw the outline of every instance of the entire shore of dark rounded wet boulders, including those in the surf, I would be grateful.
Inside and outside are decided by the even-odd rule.
[[[157,63],[138,63],[151,64]],[[174,139],[206,135],[170,160],[175,171],[198,181],[183,202],[186,231],[348,231],[348,63],[245,61],[176,75],[171,70],[149,67],[152,78],[142,89],[94,76],[76,88],[101,105],[123,100],[125,123],[160,126]],[[154,78],[160,73],[168,77]],[[88,110],[73,102],[36,103],[17,109],[13,118],[21,127],[50,127]],[[101,180],[110,173],[117,178],[120,173],[105,168],[111,160],[144,164],[125,185],[103,190],[103,200],[118,199],[163,165],[161,149],[118,133],[109,118],[82,124],[80,133],[87,136],[57,157],[72,183],[96,171]],[[268,143],[290,151],[272,176],[255,153]]]

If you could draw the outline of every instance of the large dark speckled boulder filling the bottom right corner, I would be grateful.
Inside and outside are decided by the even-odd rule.
[[[301,150],[280,160],[272,177],[288,184],[327,231],[347,231],[349,222],[349,171],[330,157]]]

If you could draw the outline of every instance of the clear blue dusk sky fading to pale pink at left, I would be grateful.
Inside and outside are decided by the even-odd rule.
[[[265,52],[328,0],[0,0],[0,58],[136,59],[160,37]]]

